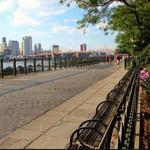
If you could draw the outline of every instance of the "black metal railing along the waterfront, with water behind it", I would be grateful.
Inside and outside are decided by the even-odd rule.
[[[0,77],[31,72],[57,70],[70,67],[86,67],[104,62],[104,56],[96,57],[48,57],[48,58],[23,58],[23,59],[0,59]]]

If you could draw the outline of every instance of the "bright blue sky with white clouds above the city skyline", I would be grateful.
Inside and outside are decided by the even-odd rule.
[[[88,49],[115,48],[116,34],[106,36],[97,26],[90,26],[86,34],[76,28],[83,14],[76,6],[60,5],[59,0],[0,0],[0,38],[21,42],[30,35],[33,44],[40,42],[44,49],[58,44],[79,50],[81,43]]]

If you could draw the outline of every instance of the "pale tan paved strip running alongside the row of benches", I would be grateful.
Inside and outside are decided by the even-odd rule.
[[[81,122],[94,115],[96,106],[105,100],[108,92],[125,73],[123,68],[118,69],[78,95],[18,128],[0,139],[0,148],[66,148],[72,132]]]

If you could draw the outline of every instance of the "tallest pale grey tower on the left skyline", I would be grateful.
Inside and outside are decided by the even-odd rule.
[[[32,54],[32,37],[31,36],[25,36],[22,38],[22,50],[23,55],[28,56]]]

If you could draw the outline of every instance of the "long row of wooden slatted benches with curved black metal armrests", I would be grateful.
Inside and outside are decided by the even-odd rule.
[[[73,132],[68,149],[133,149],[138,72],[137,67],[127,72],[97,106],[93,118]]]

